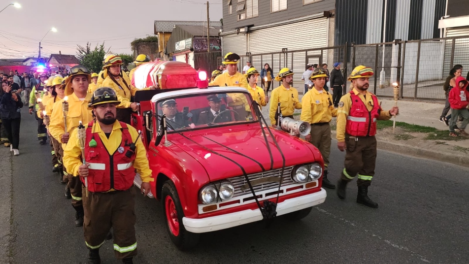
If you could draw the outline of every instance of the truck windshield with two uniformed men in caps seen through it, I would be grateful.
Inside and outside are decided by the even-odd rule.
[[[157,109],[166,116],[168,132],[258,121],[249,93],[166,98],[157,102]]]

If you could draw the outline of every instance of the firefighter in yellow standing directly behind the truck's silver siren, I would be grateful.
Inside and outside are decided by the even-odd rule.
[[[275,128],[278,122],[278,103],[280,103],[280,114],[283,117],[293,119],[295,109],[302,109],[302,103],[298,99],[298,90],[291,87],[293,85],[293,71],[289,68],[281,69],[275,80],[282,82],[282,85],[272,90],[270,94],[270,124]]]

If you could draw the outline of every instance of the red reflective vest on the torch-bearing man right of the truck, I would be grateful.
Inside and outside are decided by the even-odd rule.
[[[347,125],[345,132],[352,136],[373,136],[376,134],[376,119],[379,117],[381,107],[375,95],[371,95],[373,99],[373,109],[368,111],[365,103],[350,91],[352,105],[347,116]]]

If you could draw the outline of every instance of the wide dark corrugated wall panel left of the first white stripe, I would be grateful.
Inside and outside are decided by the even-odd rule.
[[[368,10],[368,0],[335,1],[335,46],[366,43],[368,18],[364,10]]]

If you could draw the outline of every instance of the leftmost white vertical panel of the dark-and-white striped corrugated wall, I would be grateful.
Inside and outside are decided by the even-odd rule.
[[[367,10],[367,43],[379,43],[382,40],[383,28],[383,1],[375,0],[368,2]]]

